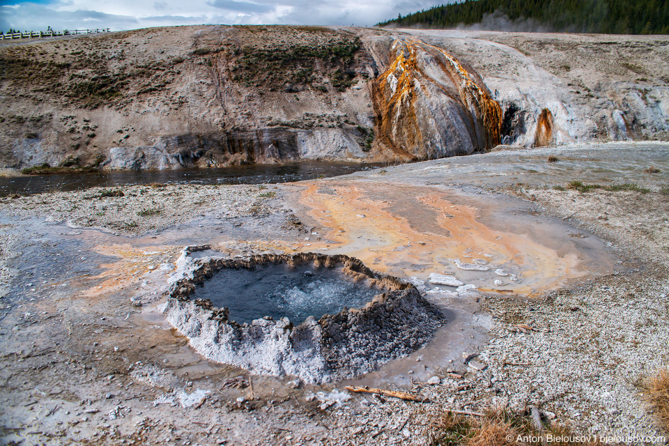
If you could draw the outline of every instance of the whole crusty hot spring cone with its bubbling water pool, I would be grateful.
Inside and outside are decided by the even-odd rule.
[[[322,383],[407,355],[445,323],[413,285],[348,256],[188,256],[197,249],[164,314],[210,360]]]

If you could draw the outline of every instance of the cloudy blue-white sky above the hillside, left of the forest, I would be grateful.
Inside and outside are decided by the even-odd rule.
[[[185,24],[371,26],[434,0],[0,0],[0,31],[122,29]],[[441,3],[441,2],[439,2]]]

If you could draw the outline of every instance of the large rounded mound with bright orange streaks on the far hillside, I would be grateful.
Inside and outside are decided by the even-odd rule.
[[[399,157],[429,160],[500,144],[500,105],[476,72],[441,48],[395,40],[372,90],[379,142]]]

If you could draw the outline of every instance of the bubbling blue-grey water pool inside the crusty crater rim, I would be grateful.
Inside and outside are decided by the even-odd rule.
[[[194,297],[210,299],[215,307],[228,307],[229,318],[238,323],[272,316],[299,324],[309,316],[319,319],[344,307],[360,308],[379,293],[337,269],[268,265],[220,270]]]

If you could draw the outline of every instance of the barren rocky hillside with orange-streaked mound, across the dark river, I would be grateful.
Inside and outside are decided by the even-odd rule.
[[[667,139],[669,38],[178,26],[0,44],[0,167],[424,160]]]

